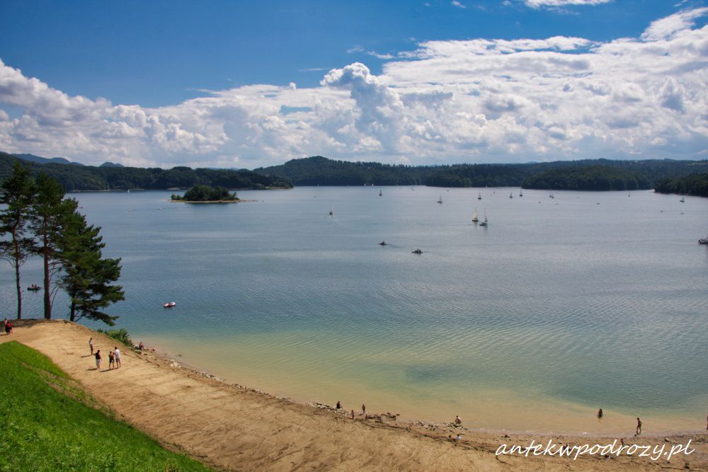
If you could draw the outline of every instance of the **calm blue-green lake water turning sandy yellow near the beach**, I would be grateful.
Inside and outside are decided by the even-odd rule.
[[[459,414],[467,427],[705,427],[708,199],[382,192],[244,191],[254,201],[232,205],[72,196],[122,258],[118,326],[229,381],[406,418]],[[489,227],[472,224],[475,207]],[[25,265],[33,282],[39,260]],[[6,264],[0,295],[11,316]],[[25,316],[40,317],[41,294],[24,296]],[[57,299],[56,316],[65,307]]]

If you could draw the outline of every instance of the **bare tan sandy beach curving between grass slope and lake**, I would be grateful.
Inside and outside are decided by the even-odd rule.
[[[186,451],[215,468],[227,470],[708,470],[708,434],[624,437],[625,444],[666,449],[690,440],[692,454],[670,461],[621,455],[579,456],[576,461],[552,456],[503,455],[501,444],[612,444],[619,437],[549,436],[467,431],[451,425],[402,422],[387,412],[356,408],[355,420],[324,405],[304,405],[226,384],[155,352],[121,346],[122,368],[96,371],[89,353],[107,353],[116,342],[67,321],[17,321],[11,335],[52,359],[87,391],[127,422],[163,444]],[[348,405],[345,405],[345,408]],[[350,409],[350,408],[349,408]],[[464,423],[463,423],[464,425]],[[462,439],[455,441],[456,434]],[[689,449],[689,450],[690,450]]]

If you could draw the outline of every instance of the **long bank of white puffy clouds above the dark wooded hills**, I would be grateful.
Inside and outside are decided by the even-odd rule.
[[[421,42],[379,76],[354,63],[313,88],[241,86],[161,108],[68,96],[0,61],[0,103],[13,115],[0,108],[0,149],[165,167],[253,168],[312,154],[704,159],[708,25],[695,21],[707,14],[681,11],[610,42]]]

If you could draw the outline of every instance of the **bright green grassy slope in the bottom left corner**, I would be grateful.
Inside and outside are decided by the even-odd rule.
[[[59,367],[0,344],[0,471],[208,471],[95,402]]]

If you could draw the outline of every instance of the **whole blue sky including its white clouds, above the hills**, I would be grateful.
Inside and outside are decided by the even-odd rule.
[[[0,150],[708,159],[708,0],[0,1]]]

